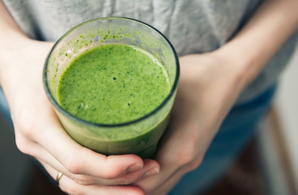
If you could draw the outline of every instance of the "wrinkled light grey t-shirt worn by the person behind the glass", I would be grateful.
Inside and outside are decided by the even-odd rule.
[[[221,47],[241,29],[262,3],[262,0],[2,1],[20,29],[33,39],[56,41],[84,21],[121,16],[143,21],[159,29],[174,45],[179,56]],[[293,53],[297,38],[298,33],[295,33],[283,45],[260,75],[246,87],[237,103],[251,100],[276,82]]]

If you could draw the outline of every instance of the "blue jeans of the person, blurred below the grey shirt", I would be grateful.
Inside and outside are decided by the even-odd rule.
[[[246,142],[255,133],[257,123],[271,105],[276,85],[253,100],[235,105],[213,139],[203,162],[184,175],[169,195],[197,194],[216,181],[232,164]],[[0,90],[0,112],[11,122],[9,110]]]

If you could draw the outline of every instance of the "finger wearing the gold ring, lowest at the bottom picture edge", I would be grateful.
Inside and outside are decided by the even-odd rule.
[[[53,169],[47,163],[40,161],[46,171],[53,177],[56,178],[58,171]],[[121,185],[89,185],[83,186],[75,183],[73,180],[65,175],[59,180],[59,187],[62,191],[71,194],[88,194],[88,195],[144,195],[143,191],[135,186],[121,186]]]

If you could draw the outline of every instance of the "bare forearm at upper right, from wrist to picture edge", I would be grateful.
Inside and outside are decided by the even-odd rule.
[[[265,1],[244,28],[218,50],[232,56],[242,90],[298,27],[297,0]],[[236,72],[237,72],[236,71]]]

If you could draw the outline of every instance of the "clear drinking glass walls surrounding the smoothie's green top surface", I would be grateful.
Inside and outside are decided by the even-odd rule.
[[[107,43],[125,43],[148,51],[169,75],[171,91],[167,98],[149,114],[134,121],[92,123],[72,116],[57,103],[59,79],[69,63],[86,49]],[[146,23],[119,17],[90,20],[64,34],[49,52],[43,73],[46,95],[72,139],[101,154],[136,154],[142,158],[154,157],[156,145],[169,122],[178,79],[179,61],[169,40]]]

